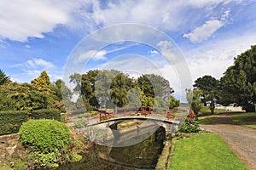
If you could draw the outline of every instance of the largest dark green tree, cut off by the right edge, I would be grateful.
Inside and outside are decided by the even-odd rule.
[[[235,104],[245,111],[255,111],[256,103],[256,45],[238,55],[221,77],[223,105]]]

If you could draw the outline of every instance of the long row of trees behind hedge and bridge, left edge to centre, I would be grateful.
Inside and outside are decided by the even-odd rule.
[[[170,83],[159,75],[146,74],[130,77],[116,70],[91,70],[70,76],[74,88],[67,88],[61,79],[50,82],[46,71],[30,83],[10,81],[0,70],[0,111],[35,111],[57,108],[65,111],[85,105],[88,111],[100,108],[132,106],[140,110],[147,106],[176,108],[179,100],[172,96]],[[73,94],[81,98],[72,101]],[[63,98],[65,96],[65,98]],[[65,108],[63,100],[68,106]],[[65,105],[66,106],[66,105]]]

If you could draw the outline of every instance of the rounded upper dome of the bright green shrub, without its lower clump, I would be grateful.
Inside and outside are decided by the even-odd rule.
[[[44,154],[62,150],[72,141],[64,123],[49,119],[24,122],[19,135],[22,144]]]

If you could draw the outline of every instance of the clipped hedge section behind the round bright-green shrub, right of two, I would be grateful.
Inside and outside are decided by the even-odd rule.
[[[55,119],[61,122],[61,111],[57,109],[42,109],[33,111],[32,119]]]

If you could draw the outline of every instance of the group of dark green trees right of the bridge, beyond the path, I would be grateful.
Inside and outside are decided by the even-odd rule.
[[[256,108],[256,45],[234,58],[234,64],[224,71],[219,80],[206,75],[195,80],[194,89],[187,89],[187,99],[195,114],[203,105],[215,104],[241,106],[245,111]]]

